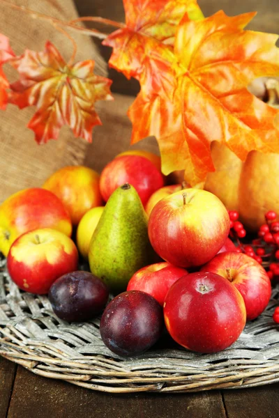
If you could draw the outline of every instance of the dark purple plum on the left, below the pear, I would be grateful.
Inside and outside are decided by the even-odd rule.
[[[73,272],[59,277],[49,292],[54,313],[68,322],[89,320],[105,308],[107,286],[89,272]]]

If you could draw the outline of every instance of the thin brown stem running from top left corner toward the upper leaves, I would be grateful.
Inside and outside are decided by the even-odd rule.
[[[71,22],[65,22],[63,20],[60,19],[56,19],[56,17],[51,17],[48,15],[44,15],[43,13],[37,13],[34,12],[33,10],[30,10],[29,8],[26,8],[25,6],[17,6],[17,4],[13,4],[10,3],[7,0],[0,0],[0,4],[3,4],[3,6],[8,6],[9,8],[12,8],[14,10],[18,10],[24,13],[27,13],[28,15],[30,15],[31,17],[33,17],[33,19],[40,19],[40,20],[45,20],[47,22],[50,22],[50,24],[52,24],[56,29],[58,28],[58,26],[64,26],[70,30],[73,30],[75,32],[79,32],[82,33],[83,35],[87,35],[87,36],[93,36],[95,38],[98,39],[105,39],[107,38],[108,34],[107,33],[103,33],[98,31],[97,29],[88,29],[88,28],[84,28],[82,26],[77,26],[74,23]],[[99,20],[102,20],[102,17],[96,17],[96,22]],[[108,24],[103,22],[104,24]],[[116,26],[117,22],[114,22]]]

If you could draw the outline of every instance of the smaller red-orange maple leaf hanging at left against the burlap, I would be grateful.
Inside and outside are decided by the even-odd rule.
[[[27,49],[11,64],[20,79],[10,85],[10,102],[20,109],[36,106],[27,126],[35,132],[38,144],[57,139],[63,125],[70,126],[75,137],[91,142],[93,127],[101,125],[95,102],[113,100],[112,81],[93,74],[94,61],[70,67],[54,45],[47,42],[45,51]]]

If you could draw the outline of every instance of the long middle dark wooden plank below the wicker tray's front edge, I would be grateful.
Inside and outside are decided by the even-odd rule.
[[[8,418],[226,418],[220,392],[105,394],[18,367]]]

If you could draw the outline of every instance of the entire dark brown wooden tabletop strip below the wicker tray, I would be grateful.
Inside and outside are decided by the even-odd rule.
[[[112,395],[36,376],[0,357],[0,418],[278,418],[279,383],[191,394]]]

